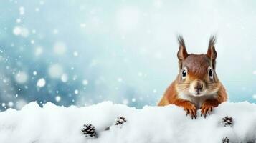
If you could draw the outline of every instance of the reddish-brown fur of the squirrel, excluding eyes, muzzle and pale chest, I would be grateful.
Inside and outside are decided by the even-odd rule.
[[[182,39],[182,37],[179,38]],[[222,83],[219,82],[215,71],[214,74],[216,75],[214,75],[214,79],[212,79],[214,82],[211,82],[207,77],[207,68],[212,66],[213,69],[215,69],[215,59],[217,57],[217,52],[214,49],[215,39],[210,39],[207,54],[199,55],[187,54],[184,40],[182,39],[182,41],[179,42],[182,42],[179,43],[180,49],[177,54],[179,58],[179,69],[181,70],[184,66],[186,66],[189,69],[188,78],[182,81],[181,73],[179,73],[179,75],[176,77],[176,80],[174,80],[174,82],[172,82],[171,85],[166,89],[166,92],[161,98],[161,101],[158,103],[158,106],[175,104],[179,107],[183,107],[186,111],[186,114],[190,114],[192,119],[196,118],[196,109],[198,108],[196,108],[196,105],[193,102],[186,99],[181,99],[179,97],[180,93],[178,92],[178,89],[182,89],[182,87],[188,87],[192,81],[199,79],[207,83],[207,90],[216,91],[214,92],[214,98],[205,99],[202,103],[201,114],[206,117],[214,107],[217,107],[222,102],[227,101],[227,93]]]

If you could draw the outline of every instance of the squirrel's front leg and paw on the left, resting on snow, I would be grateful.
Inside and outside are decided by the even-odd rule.
[[[174,104],[183,107],[186,111],[186,115],[190,114],[191,119],[196,119],[196,106],[194,106],[194,104],[184,99],[176,99]]]

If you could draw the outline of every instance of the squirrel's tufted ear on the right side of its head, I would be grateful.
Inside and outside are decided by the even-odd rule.
[[[217,52],[215,50],[215,45],[216,43],[216,36],[211,36],[211,38],[209,39],[209,46],[208,46],[208,51],[207,51],[207,56],[209,57],[209,59],[211,59],[212,61],[212,66],[215,69],[215,60],[217,58]]]

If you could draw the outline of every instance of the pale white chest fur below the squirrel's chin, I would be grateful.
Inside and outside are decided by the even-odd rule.
[[[204,95],[201,97],[195,97],[189,94],[179,94],[179,98],[189,100],[196,106],[196,109],[200,109],[205,100],[217,98],[217,94]]]

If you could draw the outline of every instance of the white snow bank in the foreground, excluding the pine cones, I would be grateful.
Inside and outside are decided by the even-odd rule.
[[[113,126],[120,116],[127,122],[122,127]],[[220,124],[225,116],[233,117],[233,127]],[[85,123],[95,126],[97,139],[87,139],[81,133]],[[105,131],[108,126],[110,130]],[[41,108],[32,102],[21,111],[8,109],[0,113],[0,142],[3,143],[222,142],[224,137],[230,142],[255,142],[255,104],[220,104],[209,117],[196,120],[186,117],[184,110],[174,105],[135,109],[112,102],[80,108],[51,103]]]

